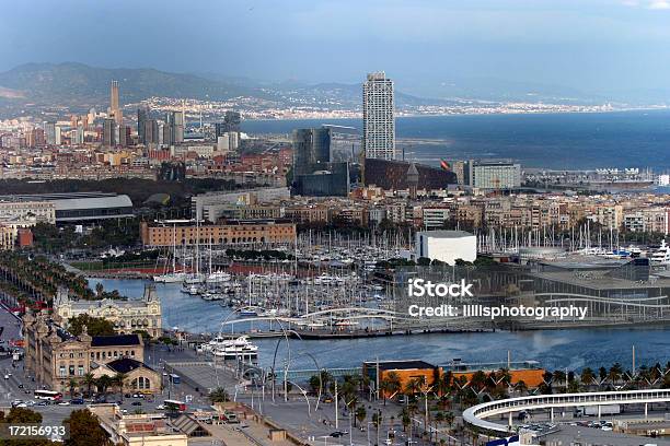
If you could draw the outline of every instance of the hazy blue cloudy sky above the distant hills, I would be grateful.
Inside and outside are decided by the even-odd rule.
[[[665,89],[670,0],[0,0],[0,71],[25,62],[360,83],[495,78]]]

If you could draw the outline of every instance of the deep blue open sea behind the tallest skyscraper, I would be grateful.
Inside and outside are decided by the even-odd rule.
[[[322,124],[361,129],[360,119],[247,120],[250,134],[284,133]],[[522,167],[670,171],[670,110],[400,117],[405,159],[512,159]]]

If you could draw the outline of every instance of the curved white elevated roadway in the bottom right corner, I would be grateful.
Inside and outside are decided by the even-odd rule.
[[[512,413],[523,410],[550,409],[553,420],[554,409],[596,406],[600,415],[600,407],[605,404],[647,404],[670,402],[670,389],[654,390],[619,390],[587,394],[539,395],[532,397],[508,398],[473,406],[463,412],[463,421],[495,435],[513,433]],[[487,416],[508,414],[508,424],[498,424],[484,420]],[[600,416],[599,416],[600,418]]]

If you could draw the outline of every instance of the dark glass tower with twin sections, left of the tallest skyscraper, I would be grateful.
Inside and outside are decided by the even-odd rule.
[[[293,131],[293,175],[311,174],[314,164],[331,161],[331,129]]]

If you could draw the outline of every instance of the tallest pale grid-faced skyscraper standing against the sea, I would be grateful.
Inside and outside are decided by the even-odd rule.
[[[393,81],[383,71],[363,83],[362,150],[368,159],[395,159]]]

